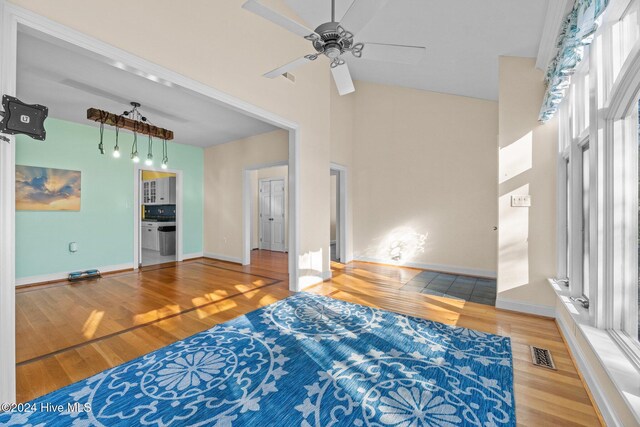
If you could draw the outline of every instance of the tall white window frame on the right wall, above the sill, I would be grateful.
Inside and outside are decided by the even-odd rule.
[[[607,331],[640,371],[640,340],[635,338],[640,0],[605,23],[587,50],[588,60],[585,57],[559,108],[558,277],[569,276],[569,294],[582,296],[582,148],[588,144],[587,324]],[[562,263],[567,253],[568,270]]]

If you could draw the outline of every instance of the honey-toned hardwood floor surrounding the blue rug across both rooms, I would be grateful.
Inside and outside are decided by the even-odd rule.
[[[511,337],[518,425],[600,425],[551,319],[399,290],[420,270],[334,263],[308,289],[345,301]],[[286,254],[254,251],[242,267],[198,259],[78,284],[18,289],[17,393],[24,402],[285,298]],[[549,348],[557,371],[534,367]]]

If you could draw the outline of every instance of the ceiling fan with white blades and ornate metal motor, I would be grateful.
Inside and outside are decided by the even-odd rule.
[[[331,0],[331,21],[325,22],[314,31],[308,29],[274,10],[264,6],[257,0],[247,0],[242,7],[281,27],[309,40],[315,53],[269,71],[264,76],[275,78],[293,70],[307,62],[315,61],[324,55],[331,61],[331,74],[336,82],[340,95],[346,95],[355,90],[343,55],[351,53],[356,58],[378,61],[397,62],[400,64],[415,64],[424,57],[426,48],[423,46],[406,46],[395,44],[381,44],[356,42],[355,35],[363,29],[374,16],[383,8],[388,0],[354,0],[342,18],[335,20],[335,0]]]

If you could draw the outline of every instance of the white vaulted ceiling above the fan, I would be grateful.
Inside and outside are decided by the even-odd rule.
[[[352,1],[336,0],[336,20]],[[537,55],[548,1],[390,0],[356,41],[422,45],[426,57],[406,65],[347,55],[347,63],[356,80],[496,100],[498,57]],[[330,21],[331,0],[285,2],[311,28]]]

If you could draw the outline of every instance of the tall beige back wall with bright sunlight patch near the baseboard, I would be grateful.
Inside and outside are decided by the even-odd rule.
[[[497,103],[360,81],[355,103],[356,258],[495,274]]]

